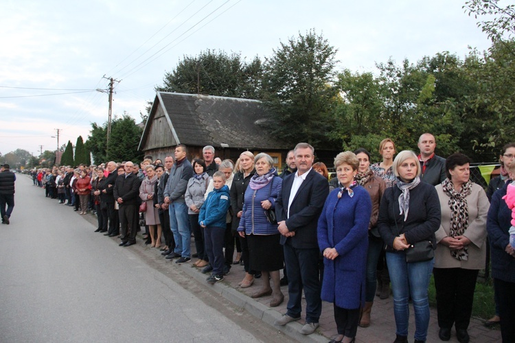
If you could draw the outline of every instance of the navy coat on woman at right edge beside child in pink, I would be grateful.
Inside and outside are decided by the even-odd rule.
[[[510,226],[512,210],[508,209],[503,196],[510,182],[492,196],[490,210],[486,219],[486,230],[492,254],[492,278],[515,283],[515,258],[505,252],[510,244]]]

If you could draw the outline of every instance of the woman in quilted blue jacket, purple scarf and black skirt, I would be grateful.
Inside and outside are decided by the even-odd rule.
[[[279,244],[281,235],[277,230],[275,200],[281,192],[282,178],[277,177],[273,159],[268,154],[254,158],[255,175],[245,191],[242,217],[238,232],[249,244],[251,270],[261,270],[262,288],[252,298],[272,295],[270,307],[279,306],[284,300],[281,292],[279,270],[283,268],[283,248]],[[272,279],[273,285],[270,285]]]

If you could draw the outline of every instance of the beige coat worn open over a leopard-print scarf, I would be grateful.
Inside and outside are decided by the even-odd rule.
[[[490,208],[490,202],[486,197],[483,188],[472,184],[472,192],[466,198],[468,205],[468,227],[464,236],[470,239],[468,245],[468,260],[459,261],[450,255],[450,249],[440,243],[448,237],[450,228],[450,207],[449,197],[444,193],[442,185],[436,186],[440,207],[442,208],[442,222],[435,233],[437,248],[435,250],[435,268],[463,268],[483,269],[485,268],[486,257],[486,216]]]

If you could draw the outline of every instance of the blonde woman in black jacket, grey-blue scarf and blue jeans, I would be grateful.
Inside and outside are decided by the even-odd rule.
[[[415,312],[415,343],[425,342],[429,326],[428,287],[433,272],[435,232],[440,203],[433,185],[420,180],[420,162],[409,150],[391,166],[397,176],[382,196],[378,230],[386,244],[386,259],[396,319],[395,343],[408,342],[409,299]],[[413,257],[413,252],[420,255]]]

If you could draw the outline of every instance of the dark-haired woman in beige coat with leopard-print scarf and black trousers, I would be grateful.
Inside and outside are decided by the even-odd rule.
[[[468,342],[477,274],[485,268],[490,208],[483,187],[470,181],[469,163],[464,154],[450,155],[446,160],[447,179],[436,186],[442,208],[433,268],[439,338],[448,340],[454,324],[459,342]]]

